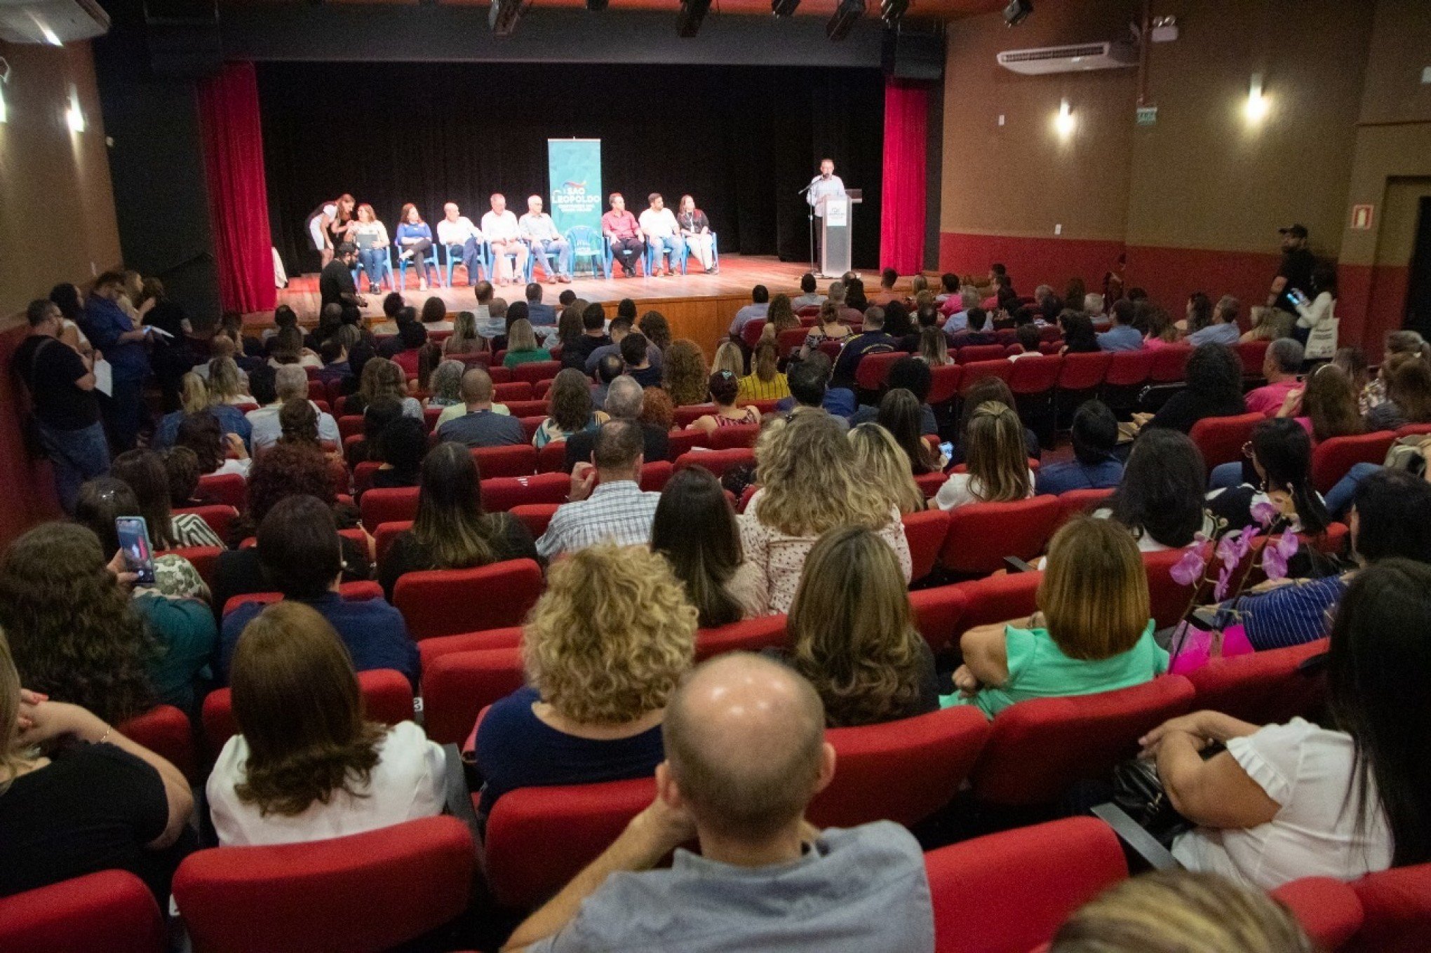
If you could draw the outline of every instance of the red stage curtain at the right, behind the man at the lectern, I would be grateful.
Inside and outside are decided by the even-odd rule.
[[[924,268],[924,149],[929,90],[884,82],[884,176],[880,268],[916,275]]]

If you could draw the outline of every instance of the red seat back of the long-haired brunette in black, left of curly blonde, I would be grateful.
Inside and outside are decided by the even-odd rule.
[[[544,580],[531,559],[508,559],[471,570],[408,572],[392,590],[414,641],[434,635],[519,625],[537,604]]]

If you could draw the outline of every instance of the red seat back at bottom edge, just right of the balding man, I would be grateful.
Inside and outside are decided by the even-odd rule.
[[[1128,877],[1113,830],[1070,817],[924,854],[936,953],[1029,953]]]

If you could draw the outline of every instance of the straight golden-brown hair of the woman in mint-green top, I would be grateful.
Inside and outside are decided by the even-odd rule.
[[[1075,517],[1053,534],[1039,582],[1049,635],[1069,658],[1110,658],[1138,644],[1152,615],[1133,535],[1115,519]]]

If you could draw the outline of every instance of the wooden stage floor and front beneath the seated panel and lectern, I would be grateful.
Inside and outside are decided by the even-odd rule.
[[[704,275],[700,266],[691,259],[691,273],[675,278],[575,278],[570,285],[550,285],[542,282],[542,300],[555,305],[557,296],[572,289],[577,298],[595,300],[605,305],[608,313],[614,313],[617,302],[631,298],[637,303],[637,311],[660,311],[671,322],[671,333],[677,338],[690,338],[700,343],[707,353],[724,336],[731,318],[744,305],[750,303],[750,289],[764,285],[771,295],[786,292],[790,296],[800,293],[800,276],[810,266],[804,262],[781,262],[774,256],[764,255],[721,255],[720,273]],[[458,272],[458,288],[429,286],[428,290],[418,290],[416,273],[408,269],[408,283],[404,298],[414,308],[421,308],[422,302],[431,296],[446,302],[448,311],[469,311],[477,306],[472,289],[462,286],[464,272]],[[538,270],[538,275],[541,272]],[[866,283],[871,279],[867,278]],[[821,282],[821,293],[829,280]],[[362,290],[362,289],[359,289]],[[508,302],[521,300],[524,290],[521,285],[508,285],[497,289],[498,296]],[[363,315],[369,319],[382,318],[382,295],[368,295],[368,306]],[[318,275],[303,275],[293,278],[288,288],[278,292],[278,303],[289,305],[298,312],[298,318],[305,325],[316,323],[319,298]],[[245,325],[252,328],[266,328],[272,325],[272,312],[258,312],[245,315]]]

